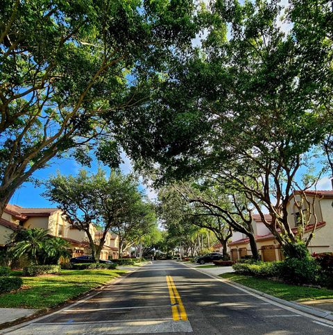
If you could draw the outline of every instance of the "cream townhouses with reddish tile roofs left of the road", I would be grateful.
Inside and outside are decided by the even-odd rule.
[[[61,237],[71,245],[72,257],[90,255],[87,234],[73,227],[61,209],[58,208],[24,208],[7,205],[0,218],[0,248],[10,241],[10,234],[20,228],[42,228],[51,236]],[[91,224],[89,232],[95,243],[99,243],[101,232]],[[119,257],[118,236],[108,233],[101,252],[101,259],[117,259]]]

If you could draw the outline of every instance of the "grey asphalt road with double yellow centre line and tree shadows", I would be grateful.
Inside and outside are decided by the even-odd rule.
[[[333,326],[176,261],[155,261],[65,311],[7,334],[333,334]]]

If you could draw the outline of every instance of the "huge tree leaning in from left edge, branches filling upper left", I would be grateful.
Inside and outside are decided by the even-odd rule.
[[[112,113],[142,103],[176,62],[198,30],[194,10],[189,0],[1,1],[0,215],[70,148],[81,162],[96,147],[119,162]]]

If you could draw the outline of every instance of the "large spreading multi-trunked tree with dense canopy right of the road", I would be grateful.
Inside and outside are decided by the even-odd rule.
[[[157,166],[153,173],[160,183],[189,175],[214,178],[221,188],[252,203],[282,248],[290,251],[303,241],[304,230],[291,230],[287,205],[296,191],[304,194],[315,184],[316,178],[302,175],[301,167],[311,168],[313,148],[332,131],[332,90],[327,89],[332,44],[327,42],[326,57],[307,53],[309,41],[300,37],[297,10],[289,15],[297,23],[290,33],[278,24],[281,10],[278,1],[216,1],[205,12],[210,28],[203,49],[173,68],[162,94],[146,103],[146,112],[133,108],[141,118],[134,135],[124,129],[134,118],[126,111],[119,112],[126,121],[118,128],[138,168]],[[317,46],[326,46],[330,29],[322,27],[318,40],[311,34]],[[313,61],[314,71],[303,60],[309,66]],[[314,80],[319,67],[325,83]],[[164,119],[167,126],[162,127]]]

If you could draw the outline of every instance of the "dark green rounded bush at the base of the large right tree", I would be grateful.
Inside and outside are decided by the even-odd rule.
[[[314,284],[318,280],[320,266],[312,257],[305,259],[287,258],[282,261],[281,276],[296,284]]]

